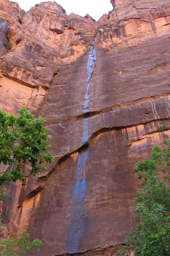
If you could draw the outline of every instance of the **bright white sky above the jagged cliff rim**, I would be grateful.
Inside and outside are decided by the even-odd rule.
[[[17,2],[20,8],[25,11],[29,11],[29,9],[35,4],[40,4],[40,2],[46,2],[45,0],[13,0]],[[52,1],[51,1],[52,2]],[[111,11],[112,4],[110,0],[55,0],[57,4],[60,4],[65,10],[67,14],[74,12],[81,16],[85,16],[89,13],[95,20],[99,20],[99,18],[104,14]]]

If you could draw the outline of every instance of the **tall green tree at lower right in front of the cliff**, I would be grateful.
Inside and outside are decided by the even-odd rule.
[[[164,143],[168,146],[165,153],[162,147],[155,145],[150,158],[139,161],[134,168],[142,180],[142,191],[137,191],[132,203],[139,223],[126,237],[124,252],[130,248],[134,255],[170,255],[170,188],[169,175],[166,175],[170,166],[170,140]],[[118,255],[122,252],[122,248],[117,251]]]

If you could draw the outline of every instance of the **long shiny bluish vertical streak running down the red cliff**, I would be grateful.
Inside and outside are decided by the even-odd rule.
[[[93,75],[94,68],[96,66],[96,49],[95,49],[95,36],[92,41],[91,49],[88,53],[88,62],[87,62],[87,86],[85,90],[85,99],[84,99],[84,108],[83,112],[89,112],[89,89],[90,89],[90,80]],[[84,119],[84,133],[82,139],[82,145],[88,142],[89,135],[89,118]],[[85,236],[85,218],[82,218],[82,215],[85,212],[85,196],[86,196],[86,180],[85,180],[85,169],[86,169],[86,160],[89,156],[89,149],[86,148],[78,152],[77,160],[77,179],[76,184],[71,192],[71,217],[70,217],[70,226],[69,226],[69,237],[67,244],[67,252],[75,253],[79,252],[79,245],[81,239]]]

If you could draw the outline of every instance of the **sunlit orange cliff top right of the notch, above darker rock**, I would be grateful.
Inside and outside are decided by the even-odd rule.
[[[166,0],[111,0],[113,10],[100,24],[97,38],[105,51],[137,45],[169,34],[170,7]]]

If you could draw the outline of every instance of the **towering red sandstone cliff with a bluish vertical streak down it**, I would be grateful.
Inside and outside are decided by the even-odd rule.
[[[136,223],[133,167],[169,136],[170,2],[111,3],[97,23],[55,2],[24,12],[5,0],[4,12],[0,0],[13,45],[1,50],[0,107],[26,105],[53,136],[55,162],[11,183],[3,204],[11,233],[43,241],[37,256],[114,254]]]

